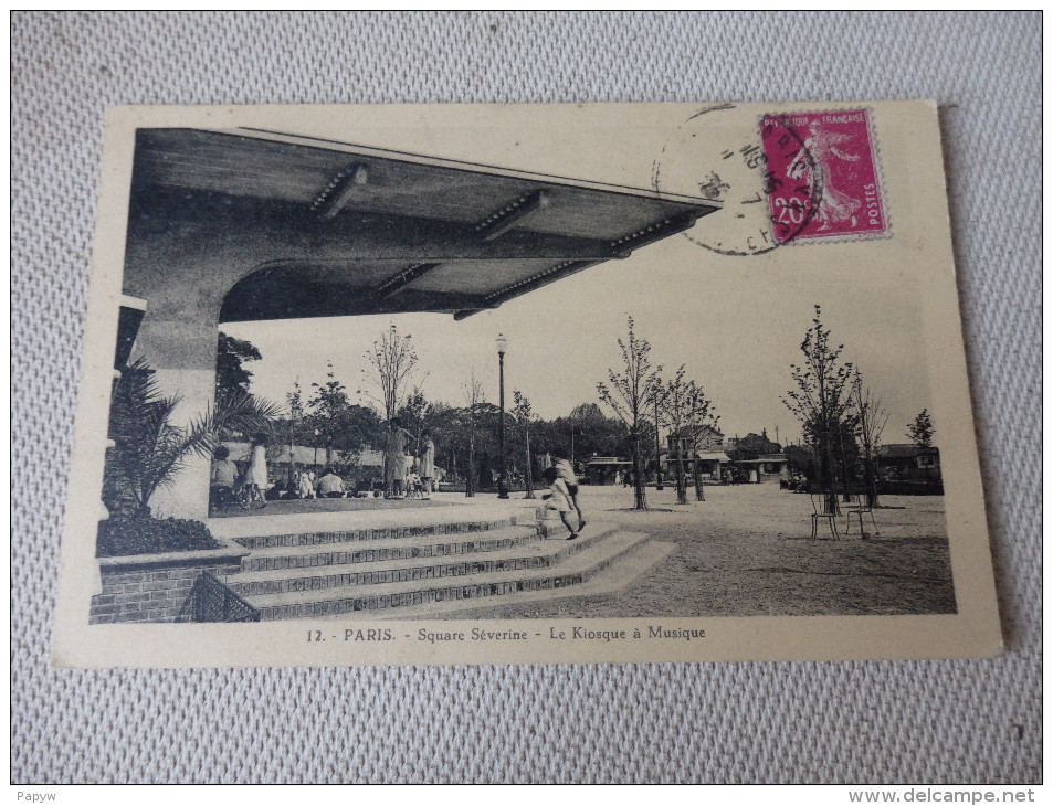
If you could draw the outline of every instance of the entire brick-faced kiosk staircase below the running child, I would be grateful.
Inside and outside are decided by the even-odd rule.
[[[533,512],[462,523],[243,537],[236,542],[250,553],[223,582],[264,621],[362,612],[409,617],[486,606],[491,603],[476,600],[495,596],[501,603],[536,598],[538,592],[575,585],[587,593],[585,583],[631,555],[647,560],[654,554],[646,551],[647,535],[609,523],[589,523],[575,541],[565,538],[558,521],[550,528]],[[636,573],[640,561],[629,565]]]

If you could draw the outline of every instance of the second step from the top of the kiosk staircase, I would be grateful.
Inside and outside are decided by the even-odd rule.
[[[275,545],[255,549],[242,558],[241,570],[278,571],[344,563],[389,562],[417,558],[445,558],[481,551],[499,551],[538,540],[537,527],[505,527],[484,532],[424,535],[417,540],[352,540],[323,545]]]

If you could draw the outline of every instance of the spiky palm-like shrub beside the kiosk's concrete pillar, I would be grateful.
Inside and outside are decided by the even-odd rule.
[[[186,428],[170,420],[179,395],[162,395],[154,370],[141,359],[127,367],[114,389],[103,502],[115,517],[150,517],[150,499],[193,456],[211,456],[227,429],[270,431],[278,406],[246,392],[220,394],[207,412]]]

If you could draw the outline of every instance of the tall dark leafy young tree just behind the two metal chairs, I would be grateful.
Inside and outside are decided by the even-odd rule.
[[[804,335],[804,361],[790,364],[794,389],[782,403],[801,421],[804,439],[815,448],[819,481],[828,494],[829,511],[836,510],[834,495],[839,470],[849,495],[847,442],[856,427],[852,411],[852,363],[842,361],[844,344],[834,346],[822,326],[822,309],[815,306],[812,327]]]

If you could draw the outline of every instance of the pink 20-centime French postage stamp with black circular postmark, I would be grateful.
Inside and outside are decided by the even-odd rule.
[[[766,115],[760,139],[777,243],[887,232],[868,110]]]

